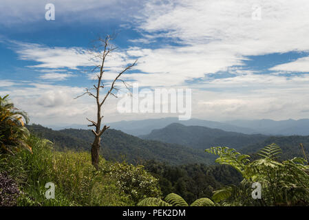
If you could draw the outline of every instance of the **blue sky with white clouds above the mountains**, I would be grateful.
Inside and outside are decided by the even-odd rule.
[[[87,124],[94,99],[74,98],[95,83],[92,43],[114,34],[106,85],[137,59],[122,80],[191,89],[192,118],[309,118],[308,12],[308,0],[0,0],[0,96],[32,123]],[[117,102],[105,122],[177,116],[120,113]]]

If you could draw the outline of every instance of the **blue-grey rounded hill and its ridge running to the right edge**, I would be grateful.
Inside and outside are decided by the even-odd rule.
[[[169,124],[163,129],[153,130],[149,135],[143,135],[142,138],[173,144],[182,143],[185,146],[201,149],[211,146],[228,146],[236,148],[241,153],[251,155],[257,153],[264,146],[275,143],[281,147],[282,159],[303,157],[303,152],[299,146],[299,143],[302,143],[306,153],[309,153],[309,135],[247,135],[203,126],[184,126],[178,123]],[[309,155],[307,157],[309,159]]]

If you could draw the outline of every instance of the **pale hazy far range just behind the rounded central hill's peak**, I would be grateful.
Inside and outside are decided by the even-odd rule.
[[[147,119],[147,120],[133,120],[133,121],[120,121],[109,123],[109,126],[113,129],[118,129],[131,135],[147,135],[153,129],[162,129],[165,126],[172,123],[180,123],[186,126],[197,125],[207,126],[212,129],[222,129],[224,131],[234,131],[239,133],[256,133],[253,129],[247,129],[241,126],[235,126],[222,122],[213,122],[208,120],[200,120],[192,118],[187,121],[180,121],[178,118],[158,118],[158,119]]]

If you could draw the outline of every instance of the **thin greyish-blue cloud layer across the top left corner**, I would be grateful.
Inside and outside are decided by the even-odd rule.
[[[102,22],[108,19],[120,19],[119,14],[122,14],[121,19],[125,19],[124,16],[140,8],[138,0],[1,0],[0,25],[24,24],[28,26],[34,22],[46,22],[45,5],[47,3],[53,3],[55,6],[56,22]]]

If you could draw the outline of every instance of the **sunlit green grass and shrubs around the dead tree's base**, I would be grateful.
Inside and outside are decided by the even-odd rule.
[[[122,171],[131,169],[127,164],[100,159],[100,169],[96,170],[89,153],[54,151],[49,140],[35,136],[28,139],[28,144],[33,154],[28,151],[0,154],[0,173],[10,173],[19,184],[18,206],[134,206],[136,198],[160,195],[156,179],[149,177],[142,167],[126,174],[140,175],[144,185],[137,186],[140,179],[130,182],[129,177],[120,178]],[[56,186],[55,199],[45,198],[47,182]],[[136,190],[138,187],[142,192]]]

